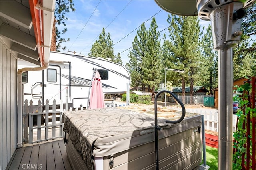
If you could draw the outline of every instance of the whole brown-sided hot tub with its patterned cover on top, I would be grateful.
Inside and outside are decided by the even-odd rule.
[[[189,113],[180,123],[165,123],[180,114],[158,117],[159,169],[193,170],[202,161],[201,115]],[[155,169],[154,115],[118,108],[67,111],[62,123],[75,170]]]

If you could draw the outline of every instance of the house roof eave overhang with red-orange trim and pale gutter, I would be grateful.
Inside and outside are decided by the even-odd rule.
[[[16,57],[49,62],[55,0],[1,0],[1,39]]]

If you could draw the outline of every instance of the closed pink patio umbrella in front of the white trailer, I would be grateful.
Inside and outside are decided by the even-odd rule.
[[[102,90],[100,73],[95,71],[92,81],[92,90],[90,97],[90,109],[104,108],[104,95]]]

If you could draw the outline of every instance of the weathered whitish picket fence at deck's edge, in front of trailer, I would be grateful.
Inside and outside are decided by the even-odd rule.
[[[60,100],[60,109],[56,109],[56,100],[53,100],[52,109],[49,109],[49,101],[46,100],[45,110],[43,111],[42,102],[38,100],[37,105],[33,101],[24,101],[23,120],[24,131],[23,141],[25,143],[42,142],[46,140],[62,138],[63,125],[61,123],[63,102]]]

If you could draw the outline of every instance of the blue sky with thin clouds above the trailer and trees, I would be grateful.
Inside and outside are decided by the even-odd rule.
[[[68,31],[61,37],[70,39],[63,42],[66,46],[63,53],[74,53],[88,56],[93,43],[99,39],[102,29],[110,33],[114,44],[114,55],[120,53],[123,65],[128,62],[129,48],[137,30],[143,22],[146,29],[150,28],[152,17],[156,18],[157,30],[160,34],[168,35],[168,12],[162,10],[154,0],[73,0],[75,12],[68,12],[65,16]],[[148,20],[148,21],[147,21]],[[146,22],[147,21],[147,22]],[[200,20],[200,25],[207,26],[209,21]],[[57,26],[62,30],[64,26]],[[137,28],[137,29],[136,29]],[[135,30],[136,29],[136,30]],[[162,38],[162,36],[160,36]],[[161,40],[163,41],[163,40]],[[71,51],[71,52],[68,52]]]

